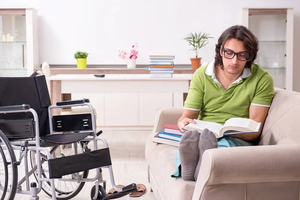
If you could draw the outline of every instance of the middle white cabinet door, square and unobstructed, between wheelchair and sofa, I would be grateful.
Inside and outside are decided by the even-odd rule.
[[[138,93],[105,93],[104,124],[138,125]]]

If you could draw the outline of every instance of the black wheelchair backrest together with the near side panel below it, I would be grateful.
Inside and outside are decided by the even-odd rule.
[[[0,106],[28,104],[38,116],[39,135],[50,133],[48,106],[50,96],[44,75],[0,77]],[[0,130],[8,139],[35,137],[31,112],[0,113]]]

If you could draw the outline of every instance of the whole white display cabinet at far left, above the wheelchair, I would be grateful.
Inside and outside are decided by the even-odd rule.
[[[0,76],[28,76],[38,66],[34,8],[0,9]]]

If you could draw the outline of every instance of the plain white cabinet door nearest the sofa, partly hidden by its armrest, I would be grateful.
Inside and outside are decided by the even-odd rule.
[[[154,125],[156,110],[173,106],[172,93],[139,93],[138,124]]]

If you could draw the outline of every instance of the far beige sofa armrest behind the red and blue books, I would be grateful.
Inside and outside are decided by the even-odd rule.
[[[162,130],[166,123],[177,124],[177,121],[181,117],[182,112],[183,107],[167,107],[157,109],[153,132]]]

